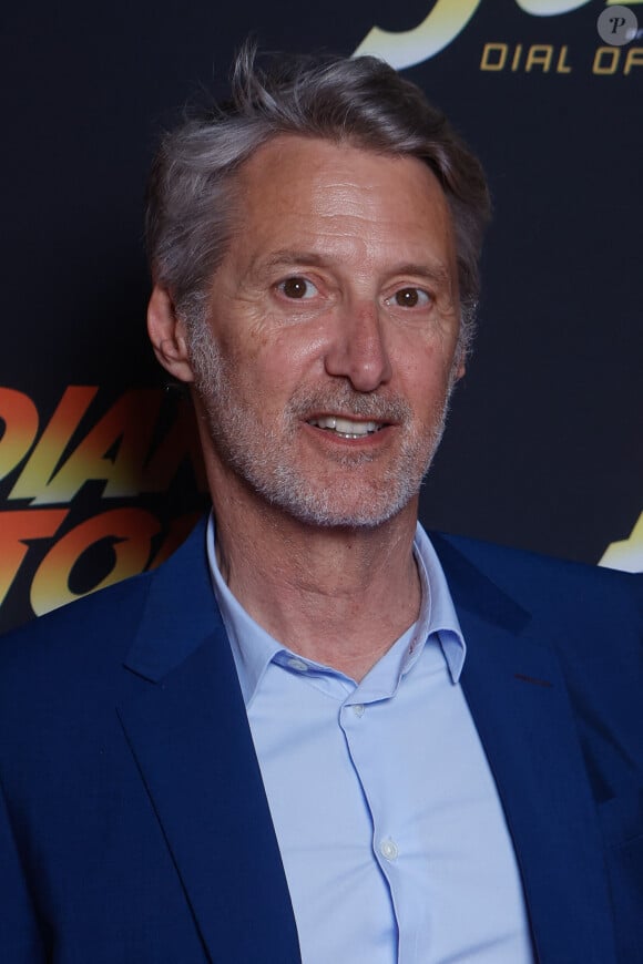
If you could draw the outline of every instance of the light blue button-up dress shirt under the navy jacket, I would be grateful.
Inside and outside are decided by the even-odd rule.
[[[418,622],[361,683],[239,605],[207,550],[304,964],[533,962],[522,884],[459,677],[466,647],[418,525]]]

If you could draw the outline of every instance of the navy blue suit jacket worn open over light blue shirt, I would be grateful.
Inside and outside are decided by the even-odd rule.
[[[640,583],[433,544],[538,960],[641,962]],[[0,781],[2,962],[299,960],[202,526],[3,640]]]

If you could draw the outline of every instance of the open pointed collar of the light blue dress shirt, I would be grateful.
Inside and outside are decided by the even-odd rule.
[[[287,663],[288,659],[299,659],[299,657],[255,623],[231,593],[218,568],[215,539],[214,513],[212,513],[206,535],[212,586],[229,638],[247,708],[272,662]],[[427,639],[435,634],[441,646],[451,680],[458,683],[465,663],[465,639],[443,570],[427,533],[419,523],[414,540],[414,554],[420,576],[422,602],[417,623],[394,644],[394,647],[397,647],[402,639],[405,640],[402,644],[405,652],[399,663],[399,679],[410,670]]]

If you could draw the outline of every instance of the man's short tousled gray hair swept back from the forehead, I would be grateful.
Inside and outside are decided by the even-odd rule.
[[[479,294],[478,260],[490,204],[482,167],[422,91],[372,57],[273,55],[257,64],[246,43],[231,100],[202,109],[165,134],[152,166],[146,239],[152,276],[188,322],[203,318],[242,203],[235,173],[279,134],[322,137],[418,157],[438,178],[452,214],[467,351]]]

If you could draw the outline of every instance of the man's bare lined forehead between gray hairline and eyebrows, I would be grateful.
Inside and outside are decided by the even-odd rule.
[[[280,135],[243,165],[237,188],[238,226],[255,250],[298,240],[340,247],[344,238],[361,239],[365,249],[433,248],[449,261],[453,254],[445,193],[416,157]]]

